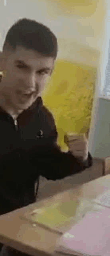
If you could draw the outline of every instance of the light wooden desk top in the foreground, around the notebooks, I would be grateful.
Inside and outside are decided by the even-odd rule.
[[[61,227],[61,231],[65,232],[71,225],[81,219],[86,212],[103,209],[103,206],[94,204],[91,200],[108,189],[110,189],[110,174],[78,186],[77,188],[56,194],[54,197],[4,214],[0,216],[0,242],[33,256],[59,256],[61,254],[54,252],[54,246],[57,238],[59,238],[61,234],[46,230],[37,224],[33,226],[33,224],[29,223],[27,220],[21,220],[20,216],[24,216],[26,212],[31,212],[45,204],[51,205],[51,203],[56,200],[64,202],[78,198],[80,203],[76,209],[75,216],[68,221],[66,228]]]

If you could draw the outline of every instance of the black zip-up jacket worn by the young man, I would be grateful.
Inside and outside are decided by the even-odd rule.
[[[35,202],[39,175],[57,180],[92,166],[90,153],[81,163],[71,152],[61,152],[54,118],[41,97],[17,120],[15,126],[0,108],[0,214]]]

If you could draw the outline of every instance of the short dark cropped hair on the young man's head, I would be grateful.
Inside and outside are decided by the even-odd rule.
[[[57,38],[47,26],[27,18],[20,19],[8,30],[3,52],[16,51],[16,46],[24,46],[54,59],[57,57]]]

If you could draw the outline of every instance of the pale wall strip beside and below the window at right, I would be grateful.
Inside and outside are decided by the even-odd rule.
[[[108,100],[103,101],[99,98],[105,98],[104,96],[104,83],[105,83],[105,71],[108,62],[108,47],[110,40],[110,1],[106,1],[106,19],[104,23],[104,34],[102,42],[102,50],[100,55],[98,77],[96,83],[96,92],[94,97],[94,104],[92,109],[92,118],[90,124],[89,133],[89,152],[92,156],[102,157],[110,155],[110,119],[109,119],[109,102]],[[106,111],[103,112],[105,106]],[[100,120],[99,120],[100,117]],[[104,125],[105,124],[105,125]],[[106,126],[106,127],[105,127]],[[103,141],[103,142],[102,142]],[[105,141],[105,143],[104,143]],[[100,146],[101,145],[101,146]],[[108,145],[108,146],[106,146]]]

